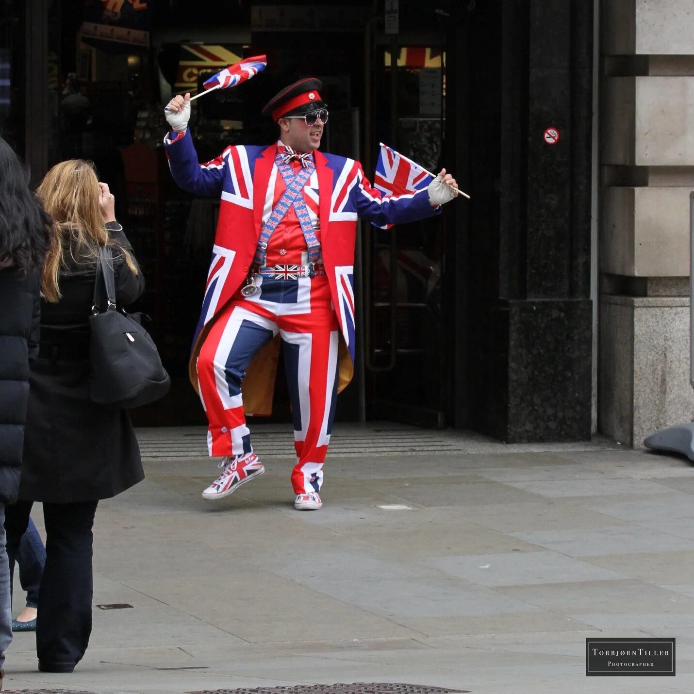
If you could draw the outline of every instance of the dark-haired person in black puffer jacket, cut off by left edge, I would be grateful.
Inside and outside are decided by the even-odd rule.
[[[26,170],[0,137],[0,689],[12,641],[5,507],[17,500],[29,397],[38,351],[40,276],[51,219],[28,187]]]

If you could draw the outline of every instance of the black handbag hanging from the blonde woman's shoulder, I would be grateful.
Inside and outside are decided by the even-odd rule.
[[[153,403],[167,394],[171,379],[139,314],[116,305],[113,254],[99,248],[90,315],[90,399],[124,409]]]

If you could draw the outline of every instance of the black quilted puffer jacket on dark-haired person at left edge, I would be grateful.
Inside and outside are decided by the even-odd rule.
[[[12,503],[19,488],[29,359],[37,351],[38,271],[0,270],[0,502]]]

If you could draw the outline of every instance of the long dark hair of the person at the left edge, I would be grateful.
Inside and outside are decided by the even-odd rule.
[[[0,270],[41,268],[53,221],[28,186],[28,172],[0,137]]]

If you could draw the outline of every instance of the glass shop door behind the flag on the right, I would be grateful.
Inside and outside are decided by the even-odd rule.
[[[376,45],[373,56],[373,151],[384,142],[437,173],[445,125],[441,47],[400,46],[391,39],[389,45]],[[366,226],[364,351],[369,418],[443,428],[448,365],[441,217],[387,230]]]

